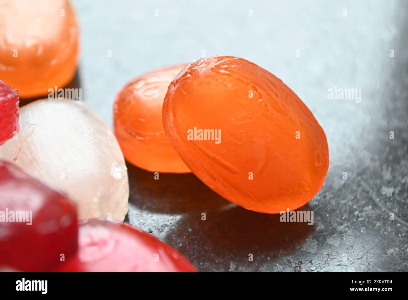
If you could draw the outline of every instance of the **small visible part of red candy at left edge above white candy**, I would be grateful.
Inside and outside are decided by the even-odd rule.
[[[18,102],[16,89],[0,80],[0,146],[18,133],[20,127]]]

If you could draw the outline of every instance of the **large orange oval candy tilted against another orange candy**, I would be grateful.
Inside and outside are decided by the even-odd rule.
[[[246,209],[297,209],[323,186],[322,127],[282,80],[242,58],[187,66],[164,98],[163,125],[191,171]]]

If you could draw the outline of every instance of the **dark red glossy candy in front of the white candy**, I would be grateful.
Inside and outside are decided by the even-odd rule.
[[[0,161],[0,269],[49,271],[77,251],[75,204]]]

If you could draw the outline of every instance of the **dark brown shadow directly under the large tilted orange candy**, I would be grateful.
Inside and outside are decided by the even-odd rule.
[[[298,210],[310,211],[308,204]],[[206,213],[206,220],[202,220]],[[200,271],[262,271],[286,262],[291,252],[314,232],[307,222],[280,222],[279,214],[257,213],[242,207],[184,216],[166,234]],[[250,254],[253,261],[248,260]],[[203,263],[201,263],[203,262]],[[287,271],[299,271],[293,264]]]

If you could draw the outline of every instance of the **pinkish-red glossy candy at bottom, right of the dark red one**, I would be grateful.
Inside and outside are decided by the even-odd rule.
[[[127,223],[80,223],[78,253],[60,264],[62,272],[194,272],[177,251]]]

